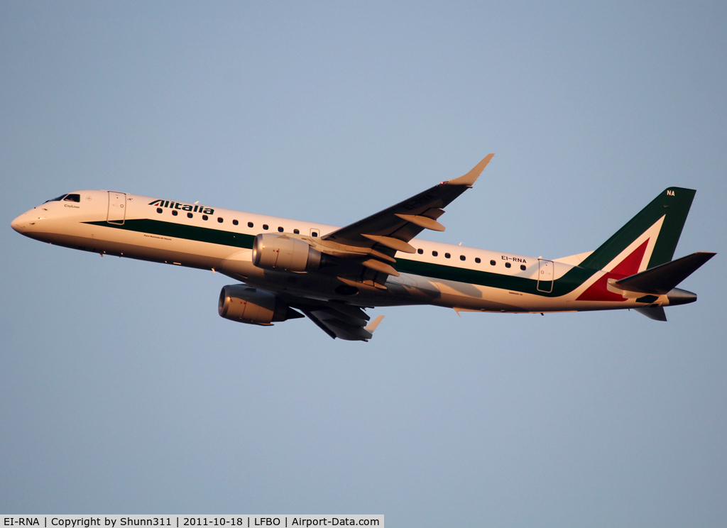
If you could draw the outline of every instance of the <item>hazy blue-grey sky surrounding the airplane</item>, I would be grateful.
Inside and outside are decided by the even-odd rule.
[[[726,94],[724,2],[0,1],[0,511],[723,526]],[[689,187],[699,301],[349,343],[9,225],[89,188],[344,225],[490,152],[425,237],[558,258]]]

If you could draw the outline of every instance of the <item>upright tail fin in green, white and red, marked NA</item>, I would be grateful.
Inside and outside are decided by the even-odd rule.
[[[579,265],[634,275],[671,261],[695,192],[664,190]]]

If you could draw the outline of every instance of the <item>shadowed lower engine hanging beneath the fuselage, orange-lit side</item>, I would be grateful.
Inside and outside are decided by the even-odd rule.
[[[275,293],[241,284],[228,285],[220,291],[217,312],[230,321],[249,325],[271,325],[273,322],[304,317],[281,301]]]

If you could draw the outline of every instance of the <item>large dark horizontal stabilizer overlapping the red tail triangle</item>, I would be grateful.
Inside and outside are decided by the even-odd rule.
[[[702,264],[716,254],[698,251],[697,253],[683,256],[681,259],[676,259],[661,266],[656,266],[631,275],[630,277],[616,280],[614,285],[616,288],[621,288],[626,291],[664,295],[676,288],[681,281],[694,273]]]

